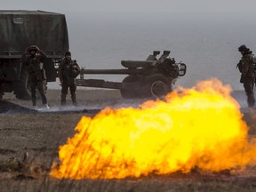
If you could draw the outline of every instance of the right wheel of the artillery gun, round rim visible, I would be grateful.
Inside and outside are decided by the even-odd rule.
[[[143,89],[146,97],[159,98],[172,91],[171,83],[161,74],[147,76],[144,83]]]

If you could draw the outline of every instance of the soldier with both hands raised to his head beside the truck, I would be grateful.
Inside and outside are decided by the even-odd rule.
[[[45,108],[49,108],[46,99],[47,82],[44,70],[46,55],[36,45],[28,47],[22,55],[21,62],[28,68],[28,86],[31,89],[31,99],[33,107],[36,107],[36,88],[39,91],[42,103]]]

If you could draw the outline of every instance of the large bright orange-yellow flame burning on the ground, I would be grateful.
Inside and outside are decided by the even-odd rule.
[[[256,150],[231,88],[219,80],[180,88],[140,108],[84,116],[60,147],[56,178],[123,179],[149,173],[219,172],[252,164]]]

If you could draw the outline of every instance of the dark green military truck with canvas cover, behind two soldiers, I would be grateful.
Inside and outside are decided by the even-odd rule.
[[[43,11],[0,11],[0,98],[13,92],[29,99],[28,71],[20,58],[30,45],[46,53],[48,82],[56,81],[58,60],[68,51],[68,28],[64,14]]]

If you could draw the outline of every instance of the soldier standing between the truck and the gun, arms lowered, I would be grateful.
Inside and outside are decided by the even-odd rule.
[[[60,62],[59,66],[59,78],[61,89],[61,106],[66,105],[66,96],[68,94],[68,87],[71,93],[71,100],[74,106],[77,106],[76,103],[76,84],[75,78],[80,73],[80,67],[76,63],[76,60],[71,60],[71,52],[65,52],[65,57]]]

